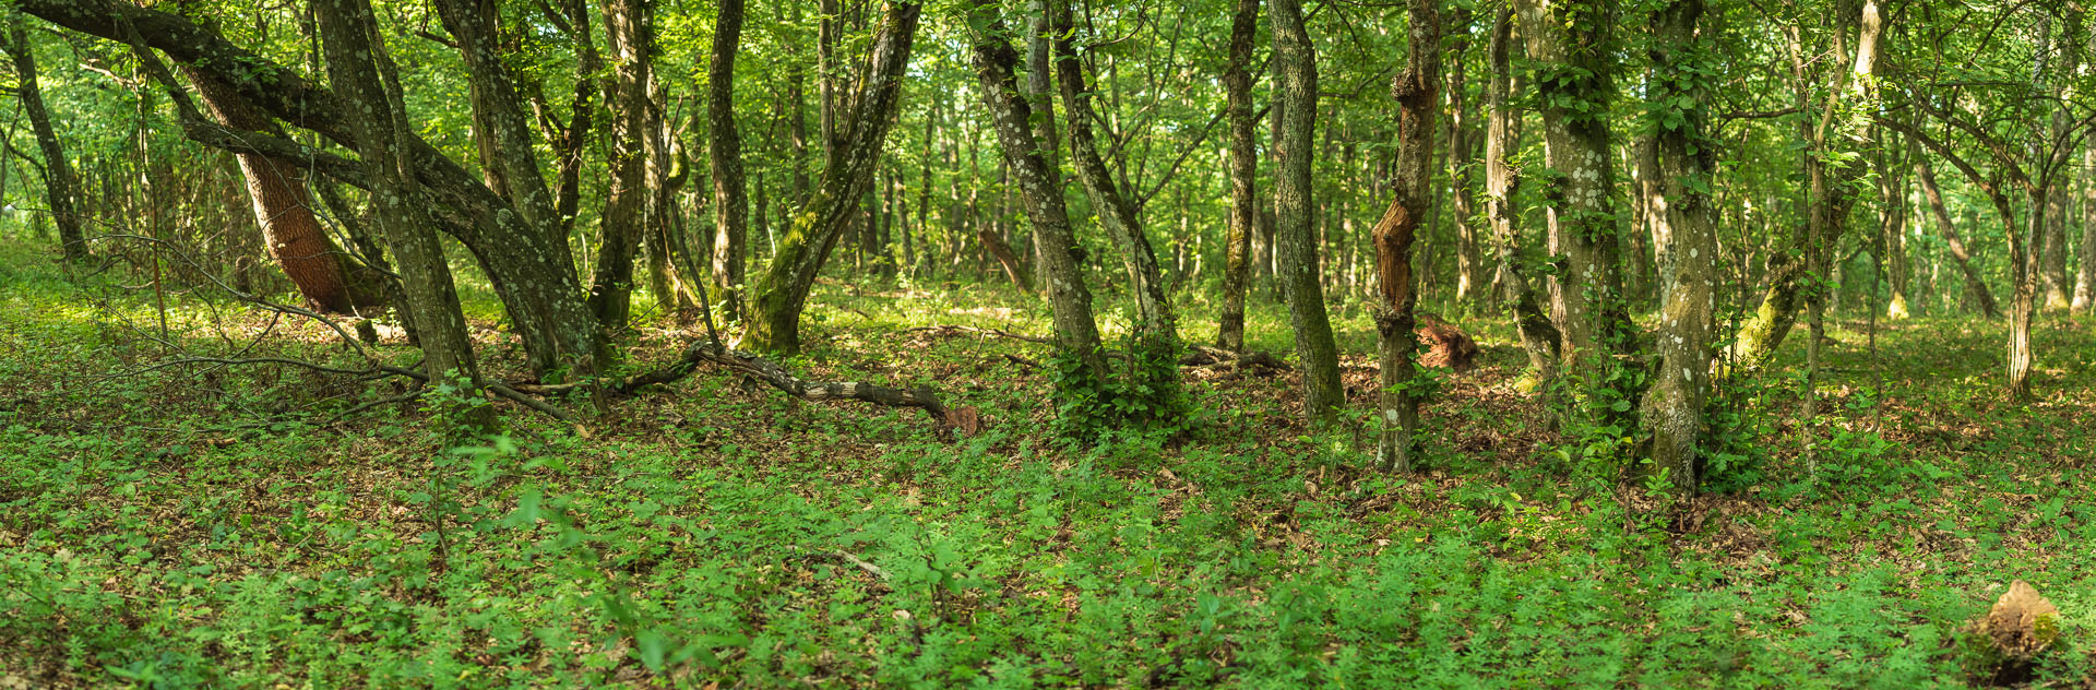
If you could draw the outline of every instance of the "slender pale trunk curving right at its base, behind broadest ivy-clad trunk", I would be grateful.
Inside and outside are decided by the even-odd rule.
[[[1484,216],[1492,227],[1492,252],[1499,256],[1503,275],[1501,302],[1513,315],[1513,329],[1522,338],[1522,352],[1534,369],[1536,390],[1549,390],[1557,380],[1557,327],[1543,315],[1543,300],[1528,279],[1528,262],[1522,260],[1520,212],[1513,208],[1513,193],[1522,178],[1509,159],[1520,149],[1515,126],[1522,115],[1513,109],[1513,6],[1501,6],[1492,21],[1492,40],[1486,52],[1492,63],[1492,84],[1486,92],[1484,124]]]

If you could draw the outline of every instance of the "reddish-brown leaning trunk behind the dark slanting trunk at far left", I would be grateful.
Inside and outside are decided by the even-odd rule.
[[[218,124],[247,132],[268,132],[272,122],[256,113],[224,84],[197,69],[182,69],[182,76],[203,107]],[[373,306],[384,296],[377,285],[352,285],[354,262],[335,247],[335,241],[321,229],[312,214],[312,199],[306,195],[306,170],[296,161],[275,155],[239,153],[241,178],[247,180],[247,199],[256,214],[256,224],[268,241],[268,254],[291,279],[298,294],[325,312],[348,315],[356,306]]]

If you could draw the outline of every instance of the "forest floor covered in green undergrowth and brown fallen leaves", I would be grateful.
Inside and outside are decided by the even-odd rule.
[[[2039,401],[2012,405],[2000,325],[1878,323],[1872,357],[1844,317],[1809,426],[1800,329],[1784,375],[1731,386],[1712,491],[1645,514],[1587,459],[1603,430],[1551,432],[1513,390],[1488,319],[1457,319],[1482,367],[1427,405],[1425,472],[1385,476],[1270,371],[1186,369],[1182,438],[1061,443],[1023,363],[1044,346],[905,331],[1046,333],[1004,289],[824,285],[790,363],[939,386],[981,411],[973,438],[702,369],[555,398],[581,430],[497,403],[505,436],[444,449],[413,403],[344,415],[396,380],[157,367],[363,363],[138,283],[0,243],[0,690],[2096,688],[2088,321],[2039,323]],[[1184,300],[1205,342],[1211,304]],[[1373,331],[1335,317],[1367,409]],[[520,375],[493,325],[488,369]],[[1251,333],[1291,352],[1270,300]],[[633,359],[687,338],[646,329]],[[1968,623],[2012,579],[2060,635],[1993,677]]]

